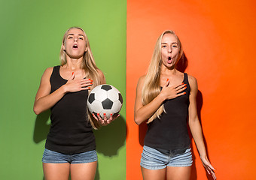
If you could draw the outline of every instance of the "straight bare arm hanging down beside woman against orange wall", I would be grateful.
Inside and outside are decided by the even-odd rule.
[[[190,105],[188,108],[188,113],[189,113],[188,124],[191,130],[193,139],[197,145],[197,149],[199,151],[203,166],[206,168],[206,171],[209,174],[212,174],[212,178],[216,179],[215,172],[213,171],[215,169],[209,162],[206,154],[206,147],[203,142],[202,127],[197,115],[197,91],[198,91],[197,80],[194,77],[189,77],[189,83],[190,83]]]

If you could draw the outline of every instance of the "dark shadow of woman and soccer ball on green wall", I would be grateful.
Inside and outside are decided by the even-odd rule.
[[[39,143],[47,138],[47,133],[50,130],[49,124],[50,110],[37,115],[35,119],[35,128],[33,140]],[[93,130],[96,137],[96,150],[105,156],[111,157],[117,155],[118,149],[125,144],[126,139],[126,122],[120,115],[108,126],[101,127],[99,130]],[[110,164],[109,164],[110,165]],[[44,180],[44,178],[42,178]],[[100,179],[99,176],[99,161],[96,170],[96,180]]]

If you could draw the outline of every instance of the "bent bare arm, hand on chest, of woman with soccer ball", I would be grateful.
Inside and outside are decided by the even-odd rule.
[[[69,78],[68,82],[57,89],[55,92],[50,93],[50,75],[53,72],[53,68],[47,68],[41,77],[41,83],[38,92],[35,96],[34,112],[40,114],[45,110],[50,109],[56,104],[66,93],[79,92],[81,90],[89,89],[91,81],[88,79],[74,80],[75,74]]]

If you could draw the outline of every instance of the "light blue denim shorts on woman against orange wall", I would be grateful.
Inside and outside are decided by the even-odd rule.
[[[193,163],[190,148],[184,153],[173,154],[172,151],[161,150],[144,145],[141,166],[145,169],[164,169],[166,166],[191,166]]]

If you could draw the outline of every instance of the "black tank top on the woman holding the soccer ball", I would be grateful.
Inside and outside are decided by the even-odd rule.
[[[50,93],[67,83],[53,67]],[[50,132],[45,148],[63,154],[78,154],[96,149],[93,128],[87,121],[88,90],[67,93],[50,110]]]

